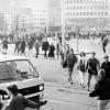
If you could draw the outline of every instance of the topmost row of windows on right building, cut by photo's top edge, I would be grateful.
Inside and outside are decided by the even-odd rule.
[[[66,3],[107,2],[108,0],[66,0]]]

